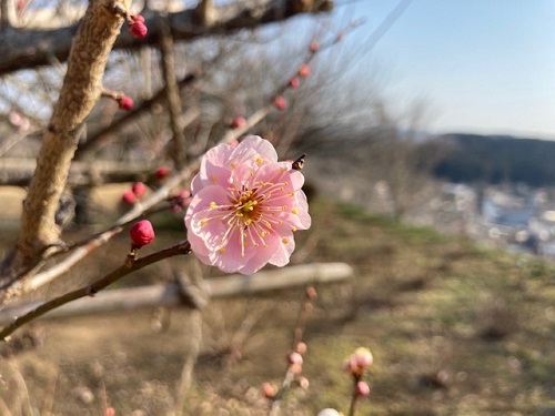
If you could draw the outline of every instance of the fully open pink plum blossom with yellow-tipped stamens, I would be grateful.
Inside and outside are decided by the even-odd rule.
[[[303,174],[278,162],[272,144],[256,135],[211,149],[192,181],[185,214],[193,253],[228,273],[284,266],[295,247],[293,233],[311,225],[303,183]]]

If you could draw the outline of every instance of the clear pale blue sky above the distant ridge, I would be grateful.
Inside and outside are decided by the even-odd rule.
[[[360,44],[396,3],[351,1],[335,18],[367,20]],[[430,103],[431,131],[555,139],[553,0],[413,0],[353,71],[376,65],[392,104]]]

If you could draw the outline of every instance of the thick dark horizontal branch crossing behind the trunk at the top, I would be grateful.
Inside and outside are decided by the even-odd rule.
[[[230,33],[240,29],[255,28],[263,23],[278,22],[302,12],[313,12],[310,8],[299,8],[300,0],[248,0],[223,4],[212,11],[211,24],[203,24],[195,10],[184,10],[169,16],[172,35],[175,40],[190,40],[202,35]],[[307,2],[310,3],[310,2]],[[320,3],[320,2],[315,2]],[[329,2],[325,2],[326,4]],[[138,40],[128,31],[118,38],[114,49],[138,49],[145,44],[157,44],[160,30],[155,24],[157,13],[149,12],[147,26],[149,34]],[[77,26],[57,30],[16,30],[8,28],[0,37],[0,74],[21,69],[49,65],[52,60],[65,61]]]

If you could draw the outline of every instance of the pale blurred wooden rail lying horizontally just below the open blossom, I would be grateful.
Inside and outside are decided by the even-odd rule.
[[[303,286],[311,283],[346,281],[353,276],[353,268],[345,263],[311,263],[297,266],[259,272],[251,276],[229,275],[205,280],[203,287],[210,297],[246,295],[256,292]],[[41,302],[10,305],[0,311],[0,325],[10,324]],[[85,297],[49,312],[41,318],[65,317],[128,311],[152,306],[183,305],[182,288],[178,284],[152,285],[100,292],[94,297]]]

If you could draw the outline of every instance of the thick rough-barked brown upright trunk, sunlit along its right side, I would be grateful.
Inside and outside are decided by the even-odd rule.
[[[108,55],[123,22],[113,8],[125,10],[129,2],[91,1],[79,26],[60,98],[23,202],[16,251],[3,265],[1,286],[38,264],[48,250],[59,244],[60,230],[54,222],[58,201],[77,149],[80,126],[101,94]]]

